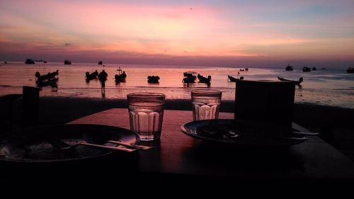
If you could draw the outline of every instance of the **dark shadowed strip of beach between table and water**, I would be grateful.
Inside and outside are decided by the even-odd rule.
[[[21,118],[21,99],[13,101],[13,120]],[[8,117],[8,101],[0,101],[0,119]],[[64,124],[110,108],[127,108],[125,99],[41,97],[40,125]],[[192,110],[190,100],[167,100],[168,110]],[[234,101],[222,101],[221,112],[234,112]],[[280,113],[281,114],[281,113]],[[354,109],[295,103],[294,122],[326,140],[354,161]]]

